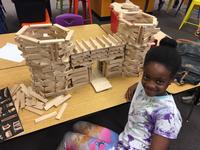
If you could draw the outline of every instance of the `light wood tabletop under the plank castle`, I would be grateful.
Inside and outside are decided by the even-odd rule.
[[[75,31],[74,40],[89,39],[89,37],[102,36],[103,34],[105,34],[105,31],[103,31],[102,28],[96,24],[70,27],[70,29],[73,29]],[[14,34],[5,34],[2,36],[9,37],[8,39],[14,41],[12,39],[14,38]],[[8,40],[7,42],[10,41]],[[10,65],[8,61],[1,61],[0,66],[2,65],[2,62],[3,66]],[[23,66],[18,66],[17,63],[14,63],[12,68],[1,69],[0,78],[0,88],[12,86],[17,83],[24,83],[26,85],[30,85],[31,83],[31,74],[28,66],[26,66],[25,64]],[[34,119],[38,118],[38,115],[35,115],[26,110],[20,111],[19,117],[24,127],[24,132],[20,135],[25,135],[62,122],[66,122],[81,116],[85,116],[94,112],[123,104],[126,102],[124,98],[124,93],[126,92],[126,89],[131,84],[138,82],[139,78],[115,77],[109,79],[109,81],[112,84],[112,89],[98,94],[95,93],[90,84],[71,90],[70,93],[72,94],[72,98],[68,101],[67,109],[65,110],[61,120],[51,118],[35,124]],[[45,112],[45,114],[58,109],[52,108],[49,111]]]

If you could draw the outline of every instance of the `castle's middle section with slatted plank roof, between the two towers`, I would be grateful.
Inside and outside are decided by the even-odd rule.
[[[99,69],[104,76],[119,75],[122,73],[124,47],[124,41],[117,35],[103,35],[87,41],[76,41],[75,49],[70,57],[72,67],[92,68],[92,64],[98,61]],[[90,76],[90,73],[88,75]],[[89,76],[88,79],[90,79]]]

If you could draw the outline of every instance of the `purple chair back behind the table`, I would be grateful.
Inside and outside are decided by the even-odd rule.
[[[56,16],[54,23],[57,23],[64,27],[82,25],[83,17],[76,14],[66,13]]]

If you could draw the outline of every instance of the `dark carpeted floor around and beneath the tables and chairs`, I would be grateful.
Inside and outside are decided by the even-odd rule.
[[[2,0],[7,10],[7,25],[9,32],[16,32],[19,30],[19,23],[16,17],[15,8],[13,3],[9,0]],[[53,18],[56,15],[61,14],[59,10],[55,9],[55,0],[51,0]],[[156,9],[156,5],[155,5]],[[174,11],[166,13],[163,9],[161,11],[154,11],[153,15],[158,18],[159,27],[163,32],[171,36],[172,38],[187,38],[191,40],[198,40],[194,36],[196,27],[191,25],[184,25],[183,28],[178,31],[178,26],[183,18],[182,13],[178,16],[174,16]],[[194,14],[196,17],[196,14]],[[104,24],[109,23],[109,19],[99,20],[95,15],[93,16],[94,23]],[[195,107],[190,122],[185,122],[186,116],[190,110],[191,104],[183,104],[180,101],[180,97],[187,93],[181,93],[175,95],[177,107],[179,108],[183,117],[183,127],[180,131],[178,139],[172,141],[169,150],[200,150],[200,106]],[[71,126],[77,120],[88,120],[100,125],[106,126],[116,132],[121,132],[126,123],[126,116],[128,113],[129,103],[123,104],[114,108],[110,108],[89,116],[85,116],[71,122],[63,123],[57,126],[49,127],[47,129],[34,132],[22,137],[15,138],[3,143],[0,143],[0,150],[55,150],[59,141],[62,139],[63,134],[66,131],[71,130]],[[117,118],[115,117],[117,114]]]

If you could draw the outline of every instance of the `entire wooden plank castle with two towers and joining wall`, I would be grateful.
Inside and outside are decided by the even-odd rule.
[[[34,91],[43,97],[67,94],[90,82],[96,62],[104,77],[139,76],[153,35],[160,30],[157,19],[130,2],[112,7],[119,13],[116,34],[72,42],[74,31],[58,24],[24,26],[16,33]]]

